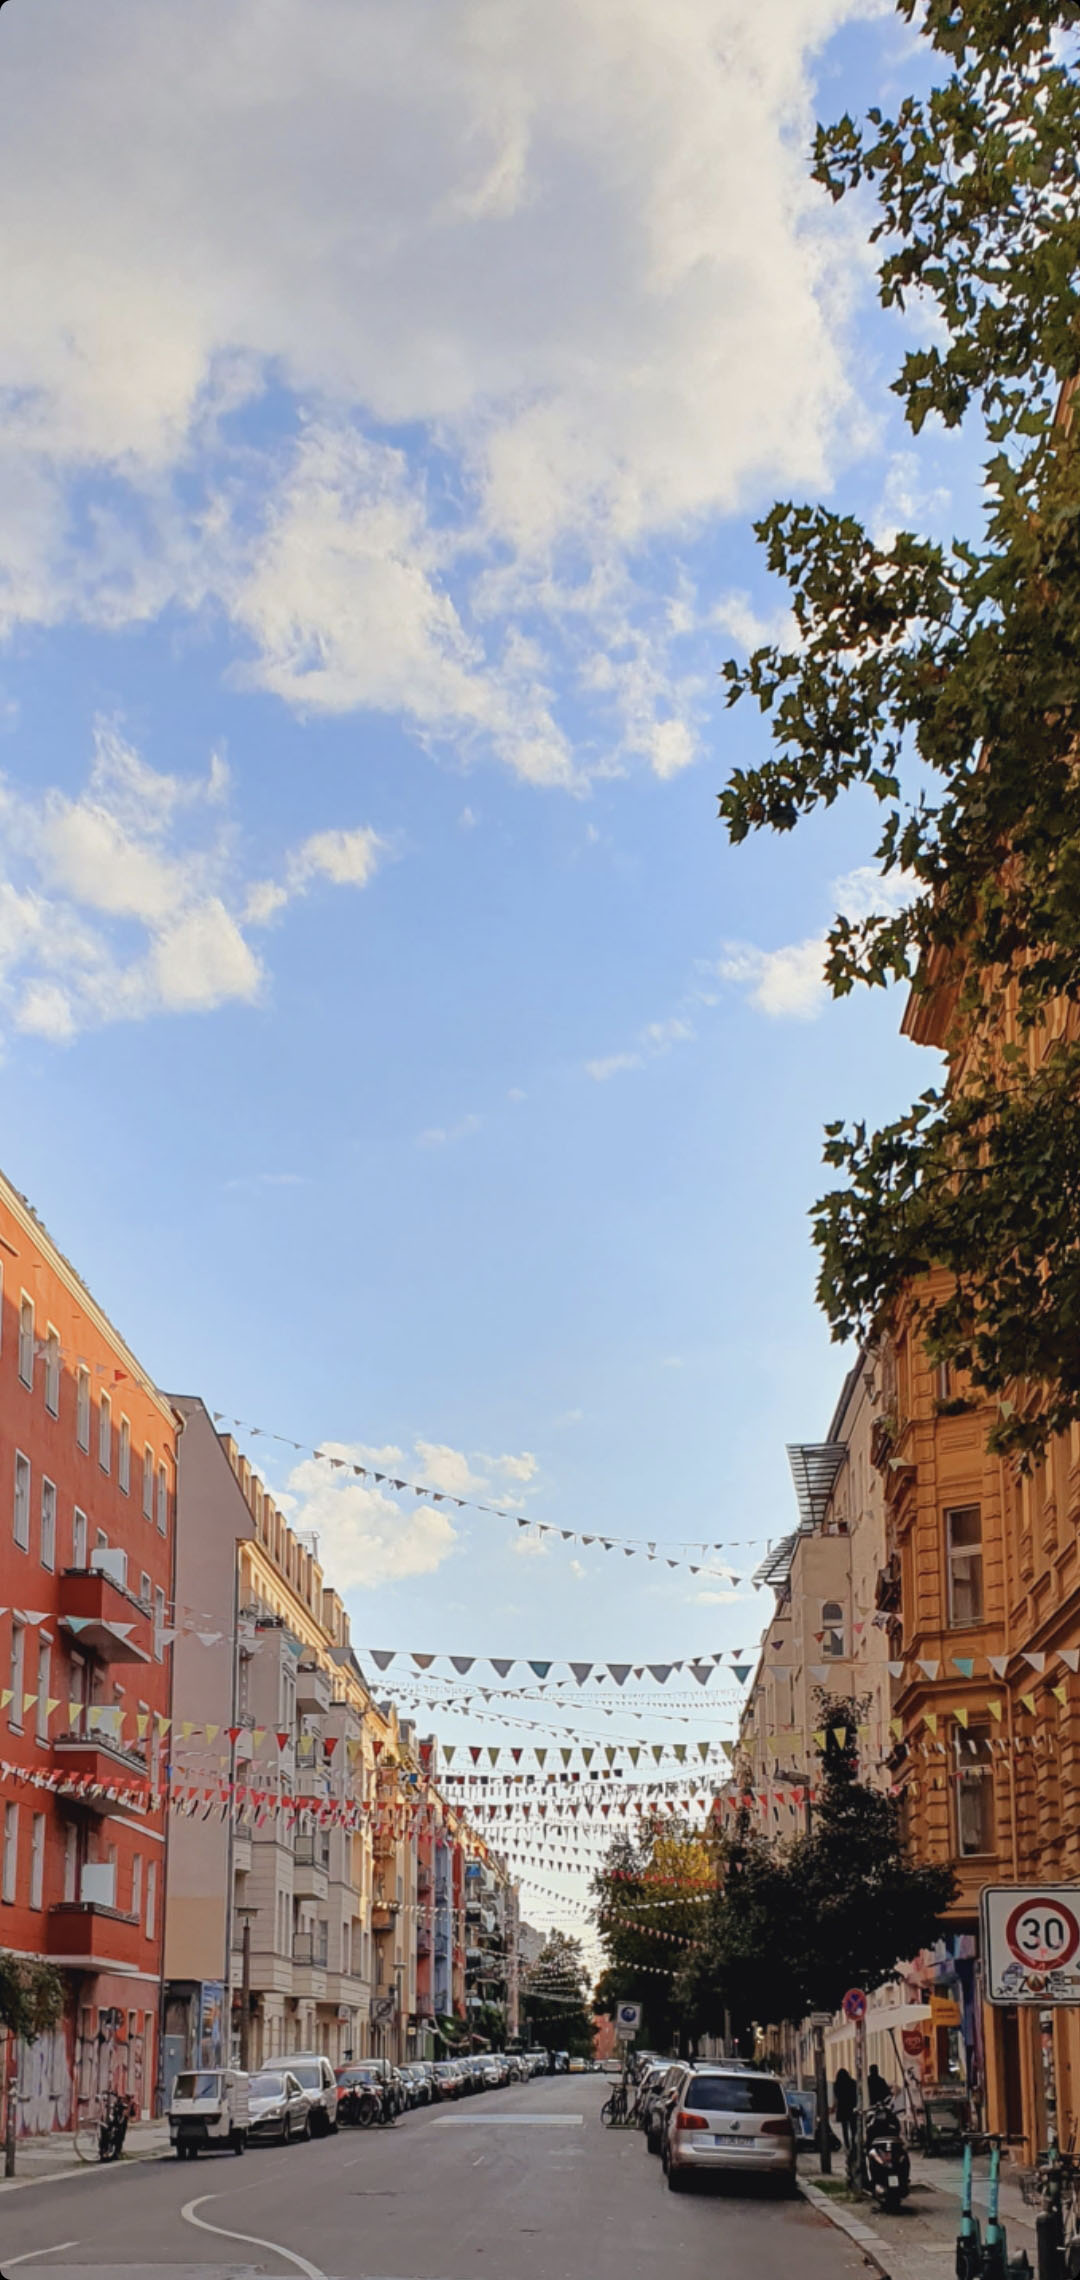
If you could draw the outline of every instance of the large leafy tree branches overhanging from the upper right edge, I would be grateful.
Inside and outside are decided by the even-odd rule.
[[[982,420],[982,529],[877,540],[795,504],[756,524],[797,643],[725,666],[772,757],[731,775],[720,814],[741,841],[852,787],[882,807],[879,907],[836,919],[827,978],[934,994],[957,1081],[882,1131],[827,1126],[845,1186],[813,1208],[818,1297],[836,1338],[866,1336],[946,1270],[923,1284],[930,1352],[998,1400],[993,1443],[1030,1461],[1080,1418],[1078,9],[900,0],[916,14],[939,84],[818,128],[813,176],[873,194],[882,303],[936,319],[893,388],[916,435]]]

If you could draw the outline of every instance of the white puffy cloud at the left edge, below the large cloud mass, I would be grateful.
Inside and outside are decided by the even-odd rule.
[[[374,832],[317,832],[285,860],[280,901],[314,880],[365,885]],[[228,768],[157,773],[98,725],[82,791],[0,780],[0,1019],[64,1044],[105,1021],[251,1003],[264,967],[244,928]]]

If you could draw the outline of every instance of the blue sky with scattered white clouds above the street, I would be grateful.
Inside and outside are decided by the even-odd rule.
[[[820,978],[870,807],[727,846],[720,668],[775,497],[966,511],[807,164],[921,68],[861,0],[2,11],[0,1161],[162,1386],[298,1443],[237,1432],[360,1648],[766,1619],[848,1359],[820,1129],[934,1067]]]

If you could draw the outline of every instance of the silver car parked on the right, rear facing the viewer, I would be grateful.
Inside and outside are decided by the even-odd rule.
[[[793,2193],[795,2125],[782,2082],[750,2068],[684,2066],[665,2118],[663,2171],[672,2193],[702,2171],[763,2175]]]

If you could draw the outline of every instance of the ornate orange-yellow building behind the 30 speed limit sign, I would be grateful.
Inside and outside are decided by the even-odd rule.
[[[950,992],[916,996],[905,1031],[962,1083]],[[1080,2120],[1080,2016],[982,2000],[980,1890],[1080,1879],[1080,1430],[1030,1475],[989,1455],[996,1404],[927,1359],[927,1288],[884,1341],[875,1443],[900,1564],[895,1778],[916,1854],[959,1876],[950,1938],[923,1959],[927,2073],[966,2079],[984,2123],[1032,2148]]]

